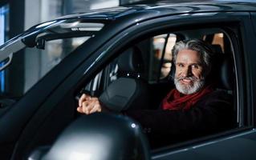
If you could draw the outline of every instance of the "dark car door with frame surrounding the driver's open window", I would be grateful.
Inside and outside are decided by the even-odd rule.
[[[225,25],[220,25],[221,22],[225,23]],[[80,61],[79,64],[75,62],[75,59],[78,58],[68,58],[74,61],[77,67],[75,67],[75,70],[69,70],[70,74],[63,74],[65,78],[61,79],[58,86],[52,86],[55,88],[51,89],[51,93],[45,95],[47,98],[44,98],[44,101],[35,102],[35,105],[41,106],[41,108],[34,110],[35,114],[30,117],[26,128],[18,138],[14,158],[29,154],[36,146],[46,145],[54,140],[59,134],[59,130],[62,130],[77,116],[75,112],[77,103],[75,96],[79,93],[79,90],[90,82],[104,66],[108,65],[109,61],[114,60],[120,50],[124,50],[124,48],[140,41],[141,38],[145,36],[150,37],[152,35],[165,34],[172,31],[191,30],[193,28],[199,30],[204,27],[221,28],[230,35],[236,65],[237,93],[235,95],[237,98],[236,106],[238,107],[238,128],[227,130],[225,133],[192,139],[189,142],[176,144],[176,146],[173,146],[173,144],[162,146],[161,148],[152,150],[152,159],[211,158],[213,154],[211,151],[216,150],[216,148],[218,148],[218,150],[232,150],[234,144],[238,145],[241,144],[239,142],[245,142],[241,141],[241,139],[248,139],[247,137],[250,137],[250,139],[254,138],[254,130],[252,130],[252,122],[250,119],[251,103],[248,102],[249,100],[246,98],[248,94],[250,97],[253,96],[250,93],[250,88],[246,88],[246,86],[250,86],[251,83],[250,80],[246,79],[250,77],[250,75],[248,75],[250,73],[243,72],[246,70],[246,66],[242,66],[242,64],[245,63],[242,62],[242,59],[244,59],[243,56],[246,54],[246,50],[242,50],[245,46],[244,43],[241,43],[241,41],[245,40],[245,36],[249,35],[248,32],[251,30],[251,28],[245,28],[245,26],[248,26],[249,22],[249,14],[246,12],[178,14],[163,16],[162,18],[152,18],[151,20],[141,22],[140,25],[130,26],[120,31],[114,38],[110,39],[108,42],[104,42],[104,44],[102,43],[103,45],[99,46],[90,57],[86,59],[83,58],[83,62]],[[239,51],[244,54],[238,54]],[[80,55],[82,56],[82,54]],[[67,64],[70,65],[72,63]],[[56,69],[55,72],[57,71]],[[47,82],[51,82],[50,78],[45,83]],[[38,87],[43,90],[44,85]],[[31,97],[27,99],[34,98],[32,95],[30,96]],[[23,105],[26,106],[25,104],[28,100],[23,101]],[[30,102],[30,105],[32,105],[34,101],[35,100]],[[249,114],[247,114],[247,110]],[[58,130],[55,130],[56,126],[59,127]],[[249,143],[245,142],[242,144],[247,146]],[[237,158],[241,158],[243,155],[242,152],[244,151],[246,150],[236,152],[236,154],[240,156]],[[247,150],[247,153],[250,151],[252,150]],[[219,152],[219,154],[216,155],[216,157],[221,156],[230,158],[231,155],[226,154],[226,152],[222,154]]]

